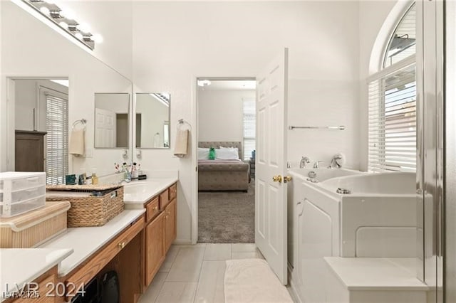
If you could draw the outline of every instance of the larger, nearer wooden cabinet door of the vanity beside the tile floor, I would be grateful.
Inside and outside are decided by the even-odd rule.
[[[150,222],[145,228],[145,286],[157,273],[160,265],[165,260],[165,212]]]

